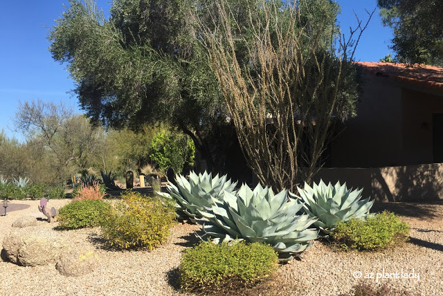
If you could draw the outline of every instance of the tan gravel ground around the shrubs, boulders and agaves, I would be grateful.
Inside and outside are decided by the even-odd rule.
[[[0,216],[0,243],[20,216],[33,215],[39,225],[54,228],[37,210],[39,201],[14,201],[30,205],[25,210]],[[69,200],[51,200],[56,208]],[[282,266],[255,295],[350,295],[361,282],[387,284],[417,295],[443,295],[443,205],[390,203],[374,206],[401,214],[412,228],[410,242],[382,252],[334,252],[316,241],[301,261]],[[3,209],[2,209],[3,210]],[[98,228],[60,232],[71,246],[96,248],[100,266],[81,277],[64,277],[52,265],[23,267],[0,261],[0,295],[183,295],[177,287],[181,251],[197,240],[197,225],[177,224],[170,238],[153,251],[109,251],[100,240]],[[390,279],[377,279],[377,272]],[[415,279],[401,278],[400,272],[414,272]],[[354,275],[362,278],[356,279]],[[398,273],[395,275],[395,272]],[[365,275],[373,279],[364,279]],[[419,277],[419,280],[417,279]]]

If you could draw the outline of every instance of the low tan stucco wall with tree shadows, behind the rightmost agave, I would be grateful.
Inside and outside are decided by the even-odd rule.
[[[318,182],[346,182],[377,201],[443,200],[443,163],[379,168],[322,168]]]

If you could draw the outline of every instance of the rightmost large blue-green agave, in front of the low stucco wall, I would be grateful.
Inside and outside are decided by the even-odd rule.
[[[318,219],[314,225],[329,233],[339,221],[366,219],[374,201],[370,201],[369,198],[361,200],[362,190],[347,189],[346,183],[340,185],[340,182],[334,186],[331,183],[326,185],[320,180],[318,185],[314,183],[312,187],[307,183],[304,189],[298,187],[300,196],[290,196],[303,201],[305,212]]]

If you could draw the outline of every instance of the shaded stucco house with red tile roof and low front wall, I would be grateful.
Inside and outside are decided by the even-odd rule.
[[[379,201],[443,201],[443,68],[359,62],[357,116],[316,181],[364,187]]]

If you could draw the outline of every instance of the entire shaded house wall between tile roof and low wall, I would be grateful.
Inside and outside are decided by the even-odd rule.
[[[357,116],[332,142],[329,167],[392,167],[433,163],[432,114],[443,95],[409,89],[389,77],[364,75]]]

